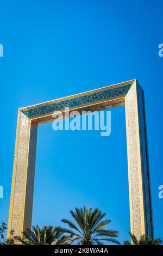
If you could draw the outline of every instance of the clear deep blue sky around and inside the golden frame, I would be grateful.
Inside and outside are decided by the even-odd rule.
[[[8,222],[17,109],[137,78],[145,90],[155,237],[163,237],[162,1],[0,1],[0,221]],[[75,206],[107,212],[128,238],[124,107],[111,136],[39,126],[33,224],[60,224]]]

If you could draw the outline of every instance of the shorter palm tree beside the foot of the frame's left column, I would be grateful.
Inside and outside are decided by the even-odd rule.
[[[27,228],[23,231],[23,239],[20,236],[15,236],[15,239],[23,245],[64,245],[70,235],[62,235],[60,227],[33,226],[32,229]]]

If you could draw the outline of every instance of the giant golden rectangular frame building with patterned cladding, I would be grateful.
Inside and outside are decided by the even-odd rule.
[[[18,109],[8,236],[11,229],[22,236],[31,227],[37,125],[54,121],[53,112],[65,107],[82,112],[121,105],[126,107],[131,233],[153,237],[145,100],[137,80]]]

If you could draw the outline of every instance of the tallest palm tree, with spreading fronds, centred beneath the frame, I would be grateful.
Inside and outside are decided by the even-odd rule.
[[[67,223],[70,228],[62,228],[64,233],[70,235],[69,245],[104,245],[104,241],[120,245],[120,242],[112,238],[117,237],[118,232],[104,229],[111,222],[110,220],[102,221],[106,215],[105,212],[99,211],[98,208],[92,211],[91,206],[89,206],[89,209],[85,209],[84,206],[70,212],[76,224],[65,218],[61,220]]]

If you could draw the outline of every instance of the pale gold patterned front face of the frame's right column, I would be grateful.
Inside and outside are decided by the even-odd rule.
[[[126,96],[126,127],[131,233],[145,234],[136,84]]]

